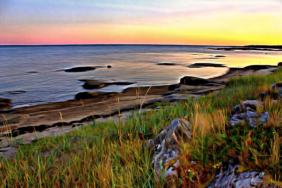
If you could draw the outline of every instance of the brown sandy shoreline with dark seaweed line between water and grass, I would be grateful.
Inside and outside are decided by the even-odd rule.
[[[23,144],[29,144],[38,137],[50,136],[52,133],[65,134],[76,129],[76,126],[85,126],[89,121],[97,118],[109,118],[119,113],[126,113],[144,108],[157,102],[171,102],[186,100],[217,92],[225,87],[228,79],[250,74],[271,74],[275,66],[252,66],[248,68],[230,68],[221,76],[210,79],[197,77],[183,77],[179,84],[129,87],[123,92],[82,92],[76,100],[33,105],[14,108],[13,112],[1,113],[5,116],[9,129],[1,126],[1,133],[7,137],[22,137]],[[77,94],[77,95],[79,95]],[[141,107],[141,108],[142,108]],[[2,117],[1,123],[5,119]],[[4,131],[5,130],[5,131]],[[39,135],[35,135],[34,131]],[[4,155],[13,149],[8,142],[4,142],[0,152]],[[10,153],[11,154],[11,153]]]

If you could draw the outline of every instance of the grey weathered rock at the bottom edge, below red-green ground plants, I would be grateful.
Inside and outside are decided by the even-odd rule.
[[[263,185],[264,172],[237,173],[239,166],[239,159],[232,158],[223,163],[208,188],[251,188]]]

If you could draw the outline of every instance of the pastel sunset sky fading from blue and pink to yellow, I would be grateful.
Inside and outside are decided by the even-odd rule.
[[[0,44],[282,45],[282,0],[0,0]]]

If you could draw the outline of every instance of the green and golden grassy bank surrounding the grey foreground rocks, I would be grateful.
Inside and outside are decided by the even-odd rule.
[[[154,181],[150,151],[144,141],[155,137],[171,120],[188,116],[190,143],[181,145],[180,181],[173,186],[205,187],[222,161],[238,156],[239,171],[264,171],[268,181],[282,174],[280,150],[282,102],[266,98],[272,121],[252,128],[228,127],[233,106],[257,100],[257,94],[282,81],[282,69],[271,75],[231,79],[226,88],[195,100],[162,103],[160,111],[135,113],[124,124],[90,122],[67,135],[20,145],[14,160],[1,159],[1,187],[162,187]],[[160,104],[158,104],[160,105]],[[3,138],[4,139],[4,138]],[[191,164],[190,161],[196,161]],[[281,178],[280,178],[281,179]]]

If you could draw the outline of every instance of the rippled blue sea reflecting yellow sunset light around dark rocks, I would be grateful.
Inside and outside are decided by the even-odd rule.
[[[121,92],[126,87],[179,83],[181,77],[210,78],[228,68],[189,68],[194,63],[218,63],[227,67],[252,64],[277,65],[279,51],[219,51],[210,46],[169,45],[48,45],[0,46],[0,97],[14,107],[67,101],[87,91],[79,79],[102,78],[136,81],[127,86],[111,85],[96,91]],[[267,53],[267,54],[265,54]],[[215,58],[215,55],[226,57]],[[157,65],[174,63],[175,66]],[[111,65],[112,68],[107,68]],[[102,66],[86,72],[65,72],[77,66]]]

